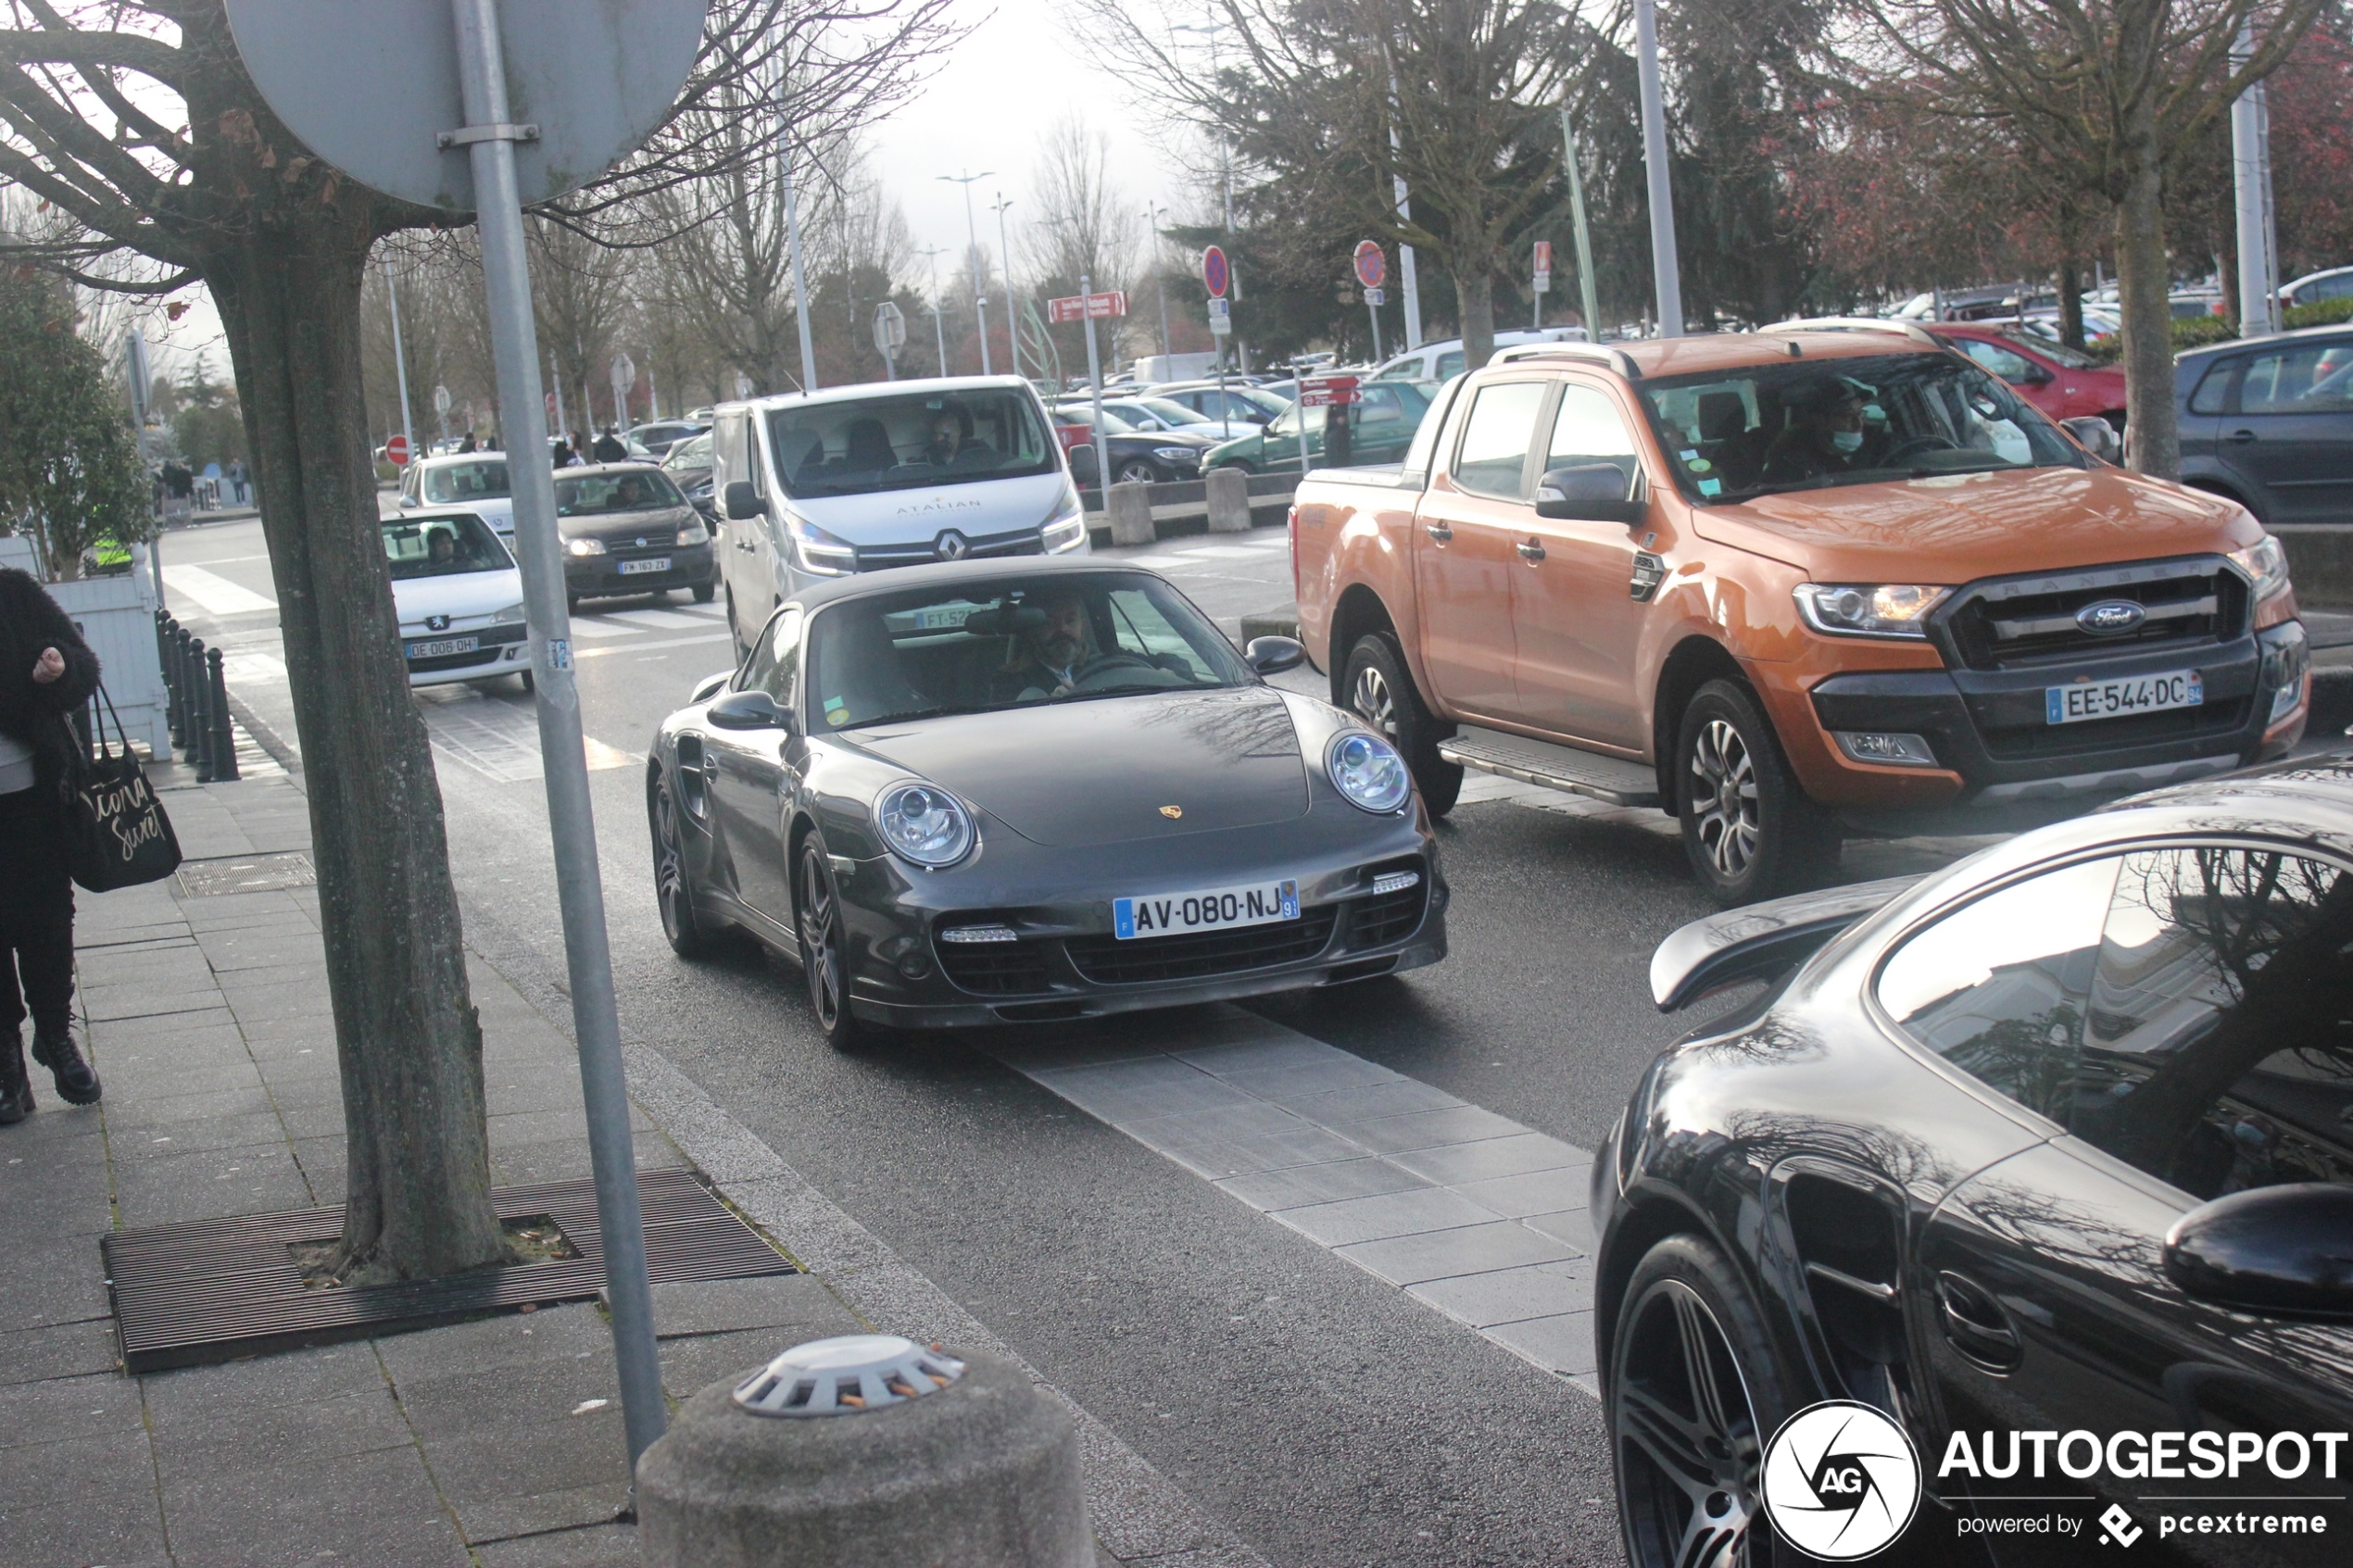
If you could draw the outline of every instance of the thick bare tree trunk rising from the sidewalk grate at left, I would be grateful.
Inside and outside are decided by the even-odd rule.
[[[205,266],[245,404],[308,783],[348,1138],[346,1281],[506,1258],[440,780],[376,524],[360,395],[367,247],[365,219],[318,216],[261,223]]]

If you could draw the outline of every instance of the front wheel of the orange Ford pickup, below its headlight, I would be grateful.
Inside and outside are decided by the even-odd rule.
[[[1838,870],[1838,818],[1798,785],[1739,682],[1708,682],[1682,710],[1675,816],[1692,872],[1725,907],[1821,886]]]

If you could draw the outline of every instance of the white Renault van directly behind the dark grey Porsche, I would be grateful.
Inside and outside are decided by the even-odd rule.
[[[1061,442],[1019,376],[868,381],[715,414],[711,496],[739,646],[821,578],[1087,548]]]

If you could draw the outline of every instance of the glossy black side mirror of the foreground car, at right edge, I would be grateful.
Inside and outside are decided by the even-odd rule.
[[[2219,1307],[2353,1319],[2353,1187],[2282,1182],[2200,1204],[2165,1232],[2165,1276]]]

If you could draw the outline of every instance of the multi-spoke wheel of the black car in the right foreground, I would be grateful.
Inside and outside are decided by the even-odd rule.
[[[1732,1265],[1668,1237],[1626,1281],[1609,1345],[1607,1422],[1619,1526],[1635,1568],[1786,1561],[1765,1521],[1765,1441],[1788,1385]]]

